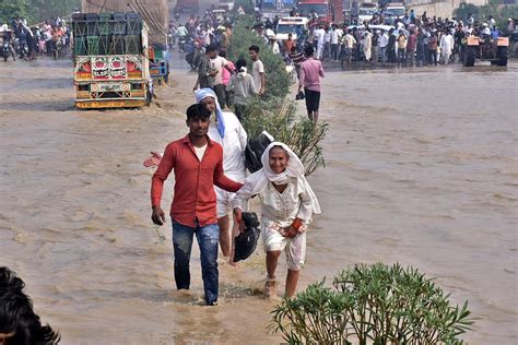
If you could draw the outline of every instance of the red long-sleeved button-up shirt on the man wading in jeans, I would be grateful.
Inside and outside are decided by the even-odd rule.
[[[196,227],[196,218],[199,226],[217,223],[214,185],[229,192],[243,187],[223,174],[223,147],[219,143],[207,136],[207,150],[200,162],[186,135],[165,148],[151,182],[152,206],[160,205],[164,181],[173,169],[176,181],[170,216],[186,226]]]

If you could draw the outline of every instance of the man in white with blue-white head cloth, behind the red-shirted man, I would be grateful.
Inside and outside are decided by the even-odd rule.
[[[244,152],[247,144],[247,133],[233,112],[221,111],[215,93],[207,87],[196,92],[197,103],[211,111],[211,123],[208,135],[212,141],[223,146],[223,170],[225,176],[235,181],[244,181],[246,177]],[[158,166],[162,155],[152,152],[144,160],[145,167]],[[216,193],[217,225],[220,226],[220,247],[224,257],[231,254],[231,233],[228,213],[235,193],[214,187]]]

